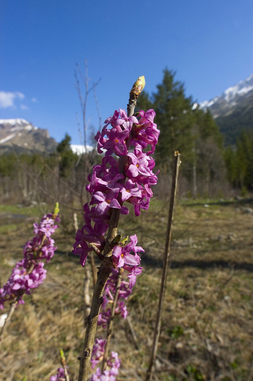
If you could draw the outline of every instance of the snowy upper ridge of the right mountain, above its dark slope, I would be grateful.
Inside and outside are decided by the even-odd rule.
[[[200,103],[202,109],[209,109],[214,118],[230,114],[240,103],[247,102],[253,96],[253,74],[236,85],[229,87],[223,93],[210,101]],[[252,104],[253,106],[253,104]]]

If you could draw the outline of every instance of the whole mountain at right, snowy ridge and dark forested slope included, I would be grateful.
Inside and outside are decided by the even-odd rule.
[[[253,74],[200,107],[213,115],[225,144],[235,144],[242,130],[253,131]]]

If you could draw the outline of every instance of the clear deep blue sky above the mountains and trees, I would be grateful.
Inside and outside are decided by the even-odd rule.
[[[125,108],[145,75],[156,90],[165,67],[197,101],[219,95],[253,72],[252,0],[2,0],[0,118],[24,118],[57,141],[80,144],[75,62],[97,86],[102,119]],[[1,101],[2,100],[2,101]],[[1,107],[2,106],[2,107]],[[87,117],[98,117],[93,93]]]

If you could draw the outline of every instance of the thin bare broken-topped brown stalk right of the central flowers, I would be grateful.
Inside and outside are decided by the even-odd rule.
[[[177,196],[178,172],[179,172],[180,163],[181,163],[180,153],[176,151],[175,160],[174,160],[173,177],[172,177],[172,186],[171,186],[171,192],[170,192],[170,207],[169,207],[166,241],[165,241],[165,249],[164,249],[164,260],[163,260],[163,267],[162,267],[161,289],[160,289],[160,295],[159,295],[158,311],[156,315],[156,326],[154,328],[153,346],[151,350],[150,363],[149,363],[149,367],[148,367],[148,371],[146,375],[146,381],[150,381],[153,376],[154,361],[156,358],[159,335],[161,330],[162,306],[164,304],[165,287],[166,287],[166,279],[167,279],[169,256],[170,256],[170,245],[171,245],[171,237],[172,237],[172,225],[173,225],[174,211],[175,211],[175,199]]]

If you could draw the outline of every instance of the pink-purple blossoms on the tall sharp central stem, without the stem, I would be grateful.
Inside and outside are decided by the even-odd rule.
[[[76,233],[73,253],[80,256],[82,266],[92,250],[100,259],[103,258],[105,233],[113,209],[128,214],[128,208],[123,206],[127,202],[134,205],[135,215],[138,216],[140,209],[149,207],[153,195],[151,186],[156,184],[158,173],[153,173],[155,163],[149,156],[154,152],[160,132],[154,123],[154,116],[154,110],[141,110],[131,117],[127,117],[125,110],[116,110],[95,136],[97,150],[99,153],[105,151],[105,156],[102,164],[94,165],[92,174],[88,176],[86,190],[91,194],[91,202],[84,205],[85,225]],[[111,128],[108,128],[109,125]],[[146,149],[148,144],[150,150]],[[133,152],[130,152],[131,146]],[[119,156],[118,160],[115,155]],[[134,286],[136,275],[142,271],[138,253],[144,250],[136,244],[137,237],[133,235],[130,243],[119,241],[113,248],[113,264],[129,272],[130,287]]]

